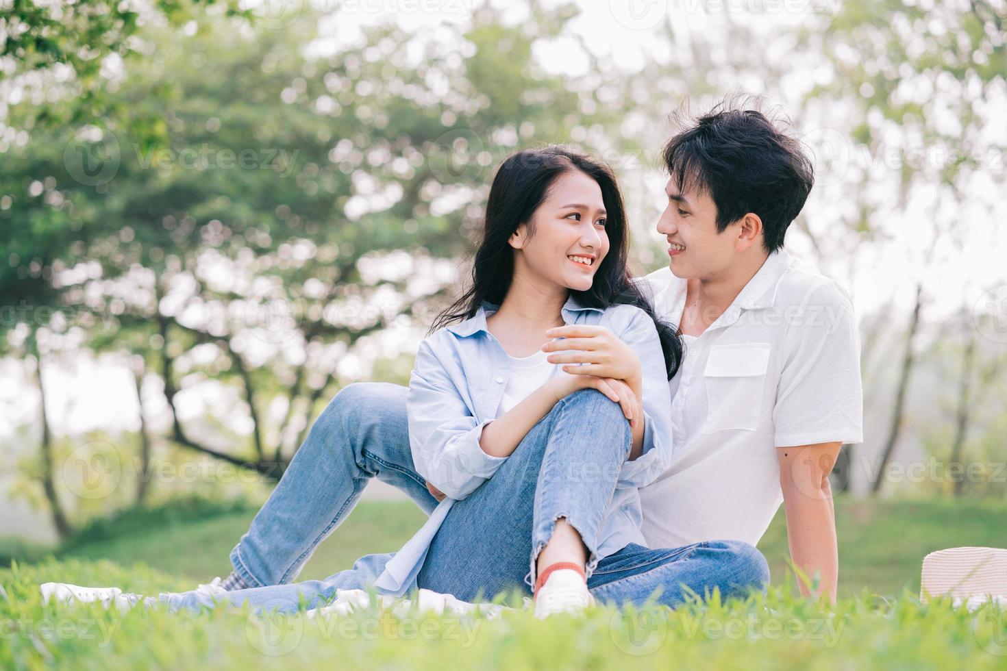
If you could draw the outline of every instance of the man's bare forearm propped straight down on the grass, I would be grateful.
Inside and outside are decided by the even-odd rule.
[[[831,603],[836,602],[839,548],[829,474],[842,447],[842,443],[819,443],[776,448],[790,559],[812,580],[818,575],[814,596],[826,595]],[[799,585],[802,595],[813,594],[812,585],[803,580]]]

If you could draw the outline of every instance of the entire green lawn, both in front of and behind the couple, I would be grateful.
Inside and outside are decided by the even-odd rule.
[[[843,590],[831,611],[794,596],[781,516],[760,545],[773,569],[767,597],[674,612],[596,609],[582,620],[538,622],[523,611],[486,621],[370,610],[308,619],[40,603],[38,584],[48,580],[142,594],[191,589],[227,572],[252,514],[141,516],[55,557],[0,569],[0,668],[1007,668],[1007,612],[970,615],[914,597],[926,552],[1007,546],[1002,504],[838,501]],[[362,505],[302,577],[396,549],[421,521],[410,504]]]

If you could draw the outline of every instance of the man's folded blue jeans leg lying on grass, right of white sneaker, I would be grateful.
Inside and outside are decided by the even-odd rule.
[[[714,590],[724,599],[765,592],[769,566],[757,549],[740,540],[711,540],[674,549],[629,544],[598,562],[587,579],[602,603],[641,606],[655,602],[676,608],[692,595],[706,599]]]

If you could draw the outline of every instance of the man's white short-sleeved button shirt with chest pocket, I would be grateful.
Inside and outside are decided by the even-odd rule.
[[[644,278],[676,327],[686,281]],[[644,288],[646,289],[646,288]],[[669,382],[672,464],[640,490],[651,547],[756,544],[782,502],[777,447],[863,440],[860,337],[849,295],[778,250],[696,338]]]

